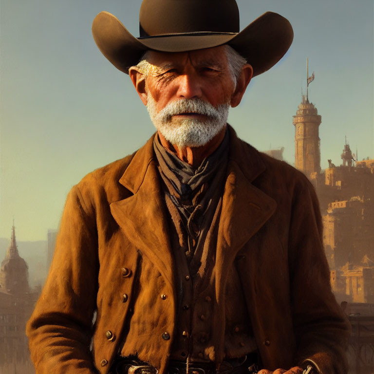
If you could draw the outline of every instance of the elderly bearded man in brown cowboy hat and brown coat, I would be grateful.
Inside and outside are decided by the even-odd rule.
[[[93,22],[157,132],[69,193],[27,326],[37,374],[344,373],[313,187],[226,123],[291,25],[239,33],[235,0],[144,0],[140,31]]]

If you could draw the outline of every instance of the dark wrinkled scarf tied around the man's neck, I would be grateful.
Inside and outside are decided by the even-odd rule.
[[[220,146],[207,156],[198,168],[168,152],[162,146],[158,135],[154,137],[153,148],[164,182],[164,191],[178,209],[186,229],[187,256],[191,257],[198,241],[204,241],[200,233],[206,232],[210,227],[222,195],[229,150],[228,131],[226,130]]]

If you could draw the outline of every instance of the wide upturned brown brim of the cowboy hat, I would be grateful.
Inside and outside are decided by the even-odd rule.
[[[92,24],[93,38],[101,53],[120,71],[129,74],[147,50],[185,52],[231,45],[253,67],[253,76],[274,66],[293,40],[290,22],[266,12],[240,33],[190,33],[136,38],[111,13],[100,12]]]

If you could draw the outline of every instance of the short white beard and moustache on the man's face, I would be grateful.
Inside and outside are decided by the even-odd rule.
[[[178,147],[201,147],[214,138],[225,126],[230,103],[217,108],[201,99],[181,99],[172,101],[157,113],[156,101],[148,93],[147,110],[155,128],[171,144]],[[195,118],[173,119],[181,113],[200,113],[208,117],[206,120]]]

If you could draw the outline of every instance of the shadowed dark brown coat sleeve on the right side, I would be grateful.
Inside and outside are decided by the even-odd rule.
[[[331,291],[318,199],[306,178],[294,189],[289,266],[295,361],[313,363],[321,374],[346,373],[350,324]]]

